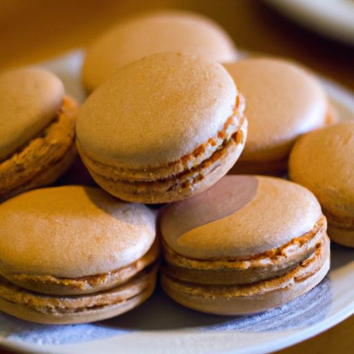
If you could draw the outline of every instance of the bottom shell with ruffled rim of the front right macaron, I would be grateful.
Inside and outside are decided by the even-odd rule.
[[[187,283],[162,272],[162,288],[179,304],[216,315],[247,315],[285,304],[324,279],[330,267],[330,241],[324,234],[315,254],[290,272],[259,283],[206,286]]]

